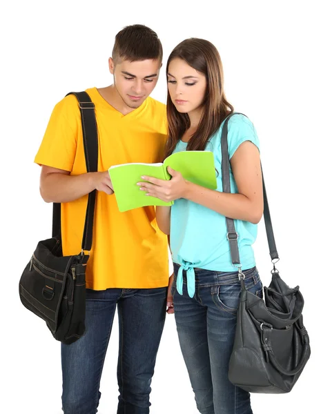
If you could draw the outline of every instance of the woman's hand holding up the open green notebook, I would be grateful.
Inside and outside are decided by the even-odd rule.
[[[143,175],[142,179],[146,179],[148,182],[139,182],[137,186],[140,186],[140,190],[146,191],[146,195],[157,197],[162,201],[185,198],[188,181],[183,178],[180,172],[171,167],[167,167],[167,171],[172,176],[169,181]]]

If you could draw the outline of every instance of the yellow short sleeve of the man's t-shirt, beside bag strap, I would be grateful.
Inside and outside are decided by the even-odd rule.
[[[62,99],[52,111],[35,163],[72,171],[77,150],[79,110],[76,98]]]

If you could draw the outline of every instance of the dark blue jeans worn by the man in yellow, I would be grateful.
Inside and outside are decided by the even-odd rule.
[[[167,288],[86,291],[86,332],[61,345],[65,414],[94,414],[101,371],[117,306],[117,414],[148,414],[150,383],[166,316]]]

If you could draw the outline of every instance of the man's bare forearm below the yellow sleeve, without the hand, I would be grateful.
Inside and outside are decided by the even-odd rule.
[[[66,175],[51,172],[40,180],[40,194],[47,203],[67,203],[95,190],[94,175],[86,172],[81,175]]]

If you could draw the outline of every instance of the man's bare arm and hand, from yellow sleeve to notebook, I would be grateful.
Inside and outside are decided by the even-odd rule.
[[[70,175],[59,168],[41,167],[40,194],[46,203],[67,203],[95,189],[108,195],[114,193],[108,171]]]

